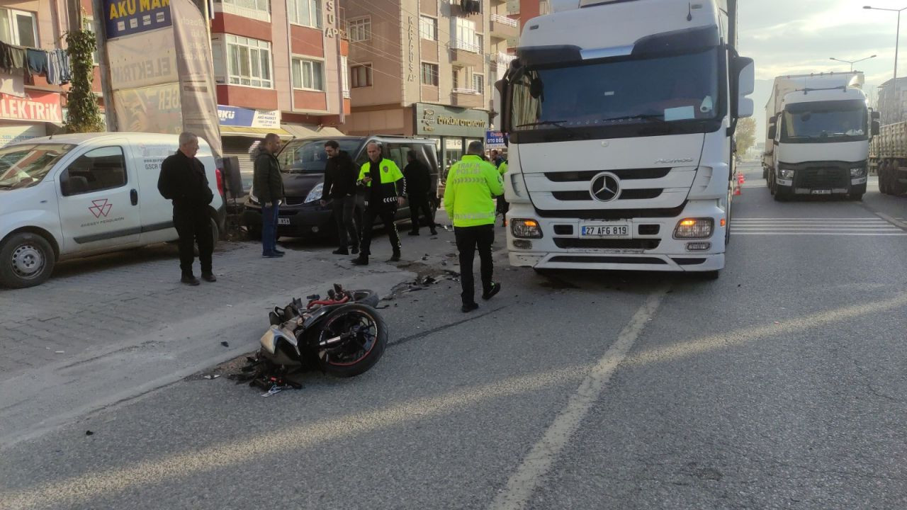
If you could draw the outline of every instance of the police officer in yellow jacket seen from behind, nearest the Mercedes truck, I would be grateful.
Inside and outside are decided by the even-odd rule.
[[[482,299],[501,291],[493,281],[494,199],[504,192],[501,174],[482,159],[482,142],[470,142],[467,154],[451,167],[444,188],[444,209],[453,221],[453,235],[460,251],[460,282],[463,312],[479,308],[475,303],[473,258],[479,250],[482,261]]]

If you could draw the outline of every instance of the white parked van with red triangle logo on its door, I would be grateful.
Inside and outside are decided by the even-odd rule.
[[[173,134],[82,133],[0,148],[0,285],[50,278],[57,260],[177,240],[171,201],[158,192],[161,162],[179,148]],[[207,142],[214,201],[211,230],[223,227],[220,171]]]

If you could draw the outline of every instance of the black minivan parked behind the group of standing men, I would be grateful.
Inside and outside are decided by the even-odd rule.
[[[334,138],[306,138],[292,140],[278,153],[280,171],[283,172],[284,191],[287,198],[280,206],[278,217],[278,237],[319,237],[330,236],[336,232],[334,211],[330,201],[321,205],[322,189],[325,184],[325,164],[327,153],[325,142],[334,140],[340,144],[340,150],[346,151],[356,167],[368,161],[366,144],[378,142],[385,158],[394,161],[400,170],[406,166],[406,152],[415,151],[418,158],[428,165],[431,172],[431,193],[437,196],[438,160],[434,140],[405,136],[338,136]],[[255,196],[254,187],[249,190],[242,223],[252,237],[261,235],[261,204]],[[432,214],[437,209],[438,201],[431,201]],[[359,197],[358,211],[364,206]],[[358,216],[358,214],[357,214]],[[408,221],[409,203],[397,210],[396,221]],[[375,224],[380,223],[378,220]]]

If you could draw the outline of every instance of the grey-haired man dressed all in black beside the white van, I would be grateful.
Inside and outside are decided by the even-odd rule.
[[[192,246],[199,244],[201,278],[217,281],[211,270],[211,253],[214,238],[211,234],[211,214],[208,205],[214,200],[205,165],[195,158],[199,152],[199,138],[191,132],[180,134],[180,150],[161,163],[158,191],[165,199],[173,201],[173,226],[180,234],[181,282],[199,285],[192,275],[195,260]]]

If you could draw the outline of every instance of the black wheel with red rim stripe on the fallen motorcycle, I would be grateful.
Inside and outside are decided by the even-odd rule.
[[[327,338],[349,334],[356,328],[354,338],[341,340],[332,347],[318,348],[318,367],[337,378],[352,378],[375,366],[387,347],[387,323],[372,307],[352,303],[327,315],[318,332],[317,343]]]

